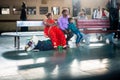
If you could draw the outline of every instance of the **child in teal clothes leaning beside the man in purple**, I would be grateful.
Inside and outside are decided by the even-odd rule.
[[[76,46],[79,46],[79,42],[82,39],[82,34],[80,33],[79,29],[75,26],[73,18],[68,18],[68,29],[71,30],[74,34],[76,34]]]

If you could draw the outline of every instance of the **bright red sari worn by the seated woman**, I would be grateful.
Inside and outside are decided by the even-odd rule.
[[[46,20],[46,22],[54,24],[54,20]],[[65,46],[66,45],[66,38],[64,33],[57,27],[57,26],[46,26],[44,29],[45,35],[47,35],[51,41],[53,46]]]

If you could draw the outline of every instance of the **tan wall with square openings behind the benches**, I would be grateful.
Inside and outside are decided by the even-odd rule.
[[[37,13],[36,15],[28,15],[29,20],[41,20],[44,19],[44,15],[39,14],[40,6],[48,6],[49,12],[51,7],[60,7],[60,12],[63,7],[69,7],[72,15],[72,0],[46,0],[47,4],[42,4],[41,0],[0,0],[0,6],[8,5],[12,10],[13,6],[21,6],[21,3],[25,1],[27,6],[36,6]],[[80,0],[81,8],[97,8],[98,6],[104,7],[107,0]],[[60,15],[54,15],[54,19],[57,19]],[[5,22],[0,22],[0,32],[4,31],[15,31],[16,29],[16,20],[19,20],[20,15],[13,15],[12,11],[10,15],[0,15],[0,21],[4,20]],[[89,15],[91,18],[91,15]],[[12,21],[13,20],[13,21]],[[29,30],[43,30],[42,28],[29,28]]]

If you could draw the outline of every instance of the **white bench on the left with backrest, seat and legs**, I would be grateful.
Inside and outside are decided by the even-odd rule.
[[[42,31],[35,32],[19,32],[20,27],[42,27],[43,21],[16,21],[16,32],[5,32],[2,33],[2,36],[14,37],[14,47],[20,49],[20,37],[27,36],[41,36],[44,35]]]

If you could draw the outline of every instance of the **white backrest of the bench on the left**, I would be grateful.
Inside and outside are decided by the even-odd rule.
[[[17,27],[40,27],[44,26],[43,21],[17,21]]]

